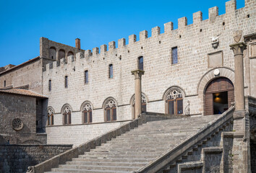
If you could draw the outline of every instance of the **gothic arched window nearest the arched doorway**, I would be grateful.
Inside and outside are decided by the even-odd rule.
[[[182,89],[177,87],[168,89],[165,94],[166,113],[171,115],[183,114],[183,96]]]

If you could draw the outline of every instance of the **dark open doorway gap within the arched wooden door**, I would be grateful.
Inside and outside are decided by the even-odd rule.
[[[222,114],[229,109],[228,92],[213,93],[213,112]]]

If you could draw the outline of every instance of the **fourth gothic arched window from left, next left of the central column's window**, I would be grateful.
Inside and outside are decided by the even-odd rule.
[[[104,105],[105,109],[105,121],[116,120],[116,101],[114,99],[107,99]]]

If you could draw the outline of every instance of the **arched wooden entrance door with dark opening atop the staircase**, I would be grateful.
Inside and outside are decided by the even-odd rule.
[[[234,85],[225,78],[213,79],[205,88],[205,115],[221,114],[234,102]]]

